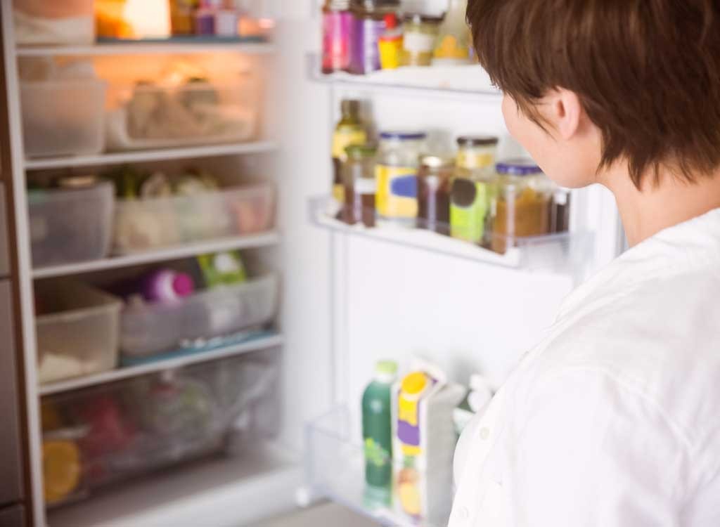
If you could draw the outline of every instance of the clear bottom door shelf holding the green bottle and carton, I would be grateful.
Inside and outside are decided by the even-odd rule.
[[[403,474],[407,469],[393,464],[387,470],[395,485],[369,487],[364,451],[355,428],[346,407],[337,407],[307,425],[307,477],[312,491],[385,526],[446,526],[451,485],[443,485],[447,496],[438,500],[439,493],[432,492],[428,474],[414,471],[413,477],[406,477]],[[356,436],[358,440],[354,441]]]

